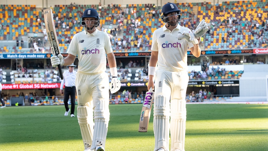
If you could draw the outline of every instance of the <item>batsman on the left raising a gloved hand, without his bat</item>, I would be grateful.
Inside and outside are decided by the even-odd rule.
[[[84,31],[75,34],[67,50],[68,56],[52,56],[53,67],[70,65],[78,57],[76,74],[77,119],[84,142],[85,151],[104,151],[108,130],[109,89],[117,92],[121,83],[117,78],[116,60],[107,33],[99,31],[98,12],[89,8],[82,16]],[[113,76],[109,86],[106,70],[106,55]],[[93,115],[94,113],[94,115]],[[94,120],[93,120],[94,116]]]

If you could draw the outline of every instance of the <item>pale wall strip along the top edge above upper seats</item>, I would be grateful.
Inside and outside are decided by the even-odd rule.
[[[233,0],[219,0],[219,3],[222,2],[228,2]],[[169,1],[169,0],[137,0],[135,2],[129,2],[128,0],[1,0],[0,5],[35,5],[37,8],[44,8],[44,7],[50,7],[55,5],[69,5],[71,2],[75,2],[77,5],[87,5],[87,4],[94,4],[98,5],[99,2],[104,6],[108,6],[109,4],[121,4],[122,7],[126,7],[127,4],[155,4],[156,6],[163,6],[167,2],[177,2],[177,3],[183,3],[183,2],[204,2],[204,0],[175,0],[175,1]],[[206,2],[211,2],[212,5],[215,5],[217,1],[215,0],[206,0]]]

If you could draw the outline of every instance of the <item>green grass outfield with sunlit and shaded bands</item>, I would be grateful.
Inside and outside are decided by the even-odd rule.
[[[268,104],[187,104],[186,107],[186,151],[268,150]],[[142,104],[109,108],[105,151],[153,151],[153,112],[148,132],[138,132]],[[64,116],[64,112],[64,106],[0,109],[0,150],[84,150],[77,118]]]

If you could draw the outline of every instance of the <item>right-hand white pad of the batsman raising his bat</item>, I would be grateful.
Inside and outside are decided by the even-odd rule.
[[[105,148],[105,141],[109,123],[109,101],[99,100],[94,109],[95,128],[93,133],[93,142],[91,149],[96,146]]]

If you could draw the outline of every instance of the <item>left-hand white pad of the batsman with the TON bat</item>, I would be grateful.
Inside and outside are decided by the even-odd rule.
[[[169,151],[169,115],[169,100],[163,95],[156,96],[154,101],[154,151],[160,148]]]

